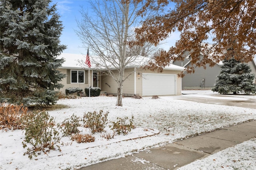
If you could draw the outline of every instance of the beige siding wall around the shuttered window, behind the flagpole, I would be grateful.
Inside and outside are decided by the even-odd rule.
[[[59,70],[61,73],[63,73],[63,74],[67,74],[67,69],[66,69],[66,68],[59,68],[58,70]],[[72,69],[72,70],[76,70],[76,69]],[[60,92],[62,92],[63,94],[66,94],[66,88],[70,88],[70,87],[82,88],[83,91],[84,91],[84,89],[85,89],[86,87],[89,87],[89,84],[88,84],[88,82],[89,82],[89,77],[86,76],[86,75],[88,75],[88,74],[86,74],[86,72],[85,72],[85,79],[87,78],[87,80],[88,80],[87,82],[85,81],[86,84],[85,84],[85,83],[70,83],[70,84],[68,84],[68,83],[67,83],[67,76],[66,76],[66,77],[63,78],[62,81],[60,82],[62,85],[64,85],[64,87],[60,89]],[[92,78],[92,71],[91,71],[91,70],[90,70],[90,78]],[[90,84],[92,85],[92,80],[90,80]]]

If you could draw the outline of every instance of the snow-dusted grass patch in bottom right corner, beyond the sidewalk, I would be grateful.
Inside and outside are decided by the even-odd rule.
[[[204,159],[196,160],[178,170],[255,170],[256,138],[230,147]]]

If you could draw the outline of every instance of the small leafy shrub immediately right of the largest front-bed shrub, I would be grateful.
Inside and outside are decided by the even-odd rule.
[[[70,118],[65,119],[62,122],[63,136],[79,133],[78,127],[80,126],[80,121],[82,121],[82,119],[74,114]]]

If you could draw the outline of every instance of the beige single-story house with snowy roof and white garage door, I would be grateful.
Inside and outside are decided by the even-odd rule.
[[[64,85],[60,89],[62,93],[65,94],[66,88],[78,87],[84,90],[89,86],[99,87],[102,92],[108,94],[117,93],[118,84],[116,81],[112,76],[101,74],[96,69],[93,69],[95,68],[94,63],[91,62],[92,67],[90,70],[88,67],[82,68],[82,66],[79,66],[78,61],[85,61],[85,56],[62,53],[58,58],[62,57],[66,59],[65,63],[58,68],[60,72],[66,74],[66,78],[63,78],[61,82]],[[171,64],[164,68],[162,73],[158,73],[144,70],[136,64],[131,64],[124,72],[125,76],[132,74],[124,81],[123,94],[124,96],[181,95],[181,78],[177,74],[182,70],[184,70],[183,67]],[[115,70],[113,72],[117,73]]]

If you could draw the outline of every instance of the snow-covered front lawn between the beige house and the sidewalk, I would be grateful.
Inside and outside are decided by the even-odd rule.
[[[210,90],[186,90],[185,92],[203,95],[204,97],[216,96],[216,93]],[[240,98],[256,98],[256,96],[247,97],[240,95],[234,97],[239,100]],[[179,96],[179,98],[182,98],[182,96]],[[137,128],[126,136],[115,135],[114,139],[110,140],[106,140],[100,137],[100,134],[96,134],[94,135],[96,137],[96,142],[94,143],[78,144],[65,137],[62,139],[62,145],[60,146],[61,152],[51,150],[47,154],[41,154],[36,158],[33,157],[32,160],[28,158],[28,155],[23,156],[23,153],[26,152],[26,149],[22,147],[22,141],[25,137],[24,131],[1,131],[0,169],[77,169],[105,160],[123,157],[126,154],[140,150],[163,146],[166,143],[210,132],[214,129],[256,120],[255,109],[177,100],[176,96],[161,96],[160,99],[152,99],[151,97],[142,99],[123,98],[122,107],[115,106],[116,97],[106,96],[62,99],[58,100],[57,104],[68,106],[65,109],[48,112],[56,118],[55,121],[57,123],[62,122],[73,113],[82,117],[88,111],[100,111],[102,109],[104,112],[109,111],[108,121],[116,121],[117,117],[124,118],[128,116],[131,118],[133,115],[134,124]],[[81,127],[80,129],[82,133],[89,133],[85,128]],[[145,129],[149,131],[145,131]],[[144,137],[147,133],[152,135],[152,133],[158,132],[160,133],[157,135]],[[143,138],[134,139],[136,137]],[[248,145],[254,144],[255,146],[256,140],[248,141],[248,143]],[[247,145],[247,143],[240,145]],[[230,150],[236,150],[236,147],[230,148]],[[242,150],[240,149],[239,154],[247,152],[246,147],[241,148]],[[222,154],[222,152],[225,154],[225,151],[218,152],[217,154]],[[255,158],[251,158],[255,162]],[[215,156],[214,159],[222,161],[218,159],[218,156]],[[224,163],[227,160],[223,159]],[[240,159],[241,161],[243,160]],[[200,168],[201,166],[203,166],[202,169],[209,168],[207,164],[205,166],[204,164],[205,162],[200,164]],[[246,166],[241,165],[239,167]]]

